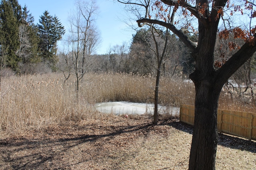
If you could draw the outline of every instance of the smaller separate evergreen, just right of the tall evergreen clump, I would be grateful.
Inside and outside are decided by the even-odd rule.
[[[65,33],[64,27],[56,16],[50,16],[48,11],[45,11],[40,16],[38,24],[38,34],[40,37],[39,47],[44,61],[48,61],[52,69],[55,68],[57,62],[56,47],[57,42]]]

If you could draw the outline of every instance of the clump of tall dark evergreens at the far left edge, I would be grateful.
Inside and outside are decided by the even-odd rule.
[[[19,71],[25,62],[38,61],[38,36],[34,17],[17,0],[2,0],[0,4],[0,44],[4,64]]]

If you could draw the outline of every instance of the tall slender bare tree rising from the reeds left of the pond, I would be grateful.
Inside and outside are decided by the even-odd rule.
[[[71,46],[72,64],[74,75],[76,76],[76,97],[79,103],[79,87],[80,81],[86,73],[86,68],[93,64],[90,61],[92,53],[96,50],[100,41],[100,35],[94,26],[95,16],[97,14],[97,6],[94,0],[76,1],[76,9],[70,16],[70,37],[68,38]],[[68,61],[68,56],[65,61]],[[86,62],[88,61],[88,62]],[[67,63],[68,64],[68,63]]]

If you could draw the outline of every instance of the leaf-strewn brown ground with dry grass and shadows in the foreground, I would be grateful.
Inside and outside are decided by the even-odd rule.
[[[192,127],[102,116],[0,137],[0,170],[186,170]],[[256,142],[219,135],[217,170],[256,170]]]

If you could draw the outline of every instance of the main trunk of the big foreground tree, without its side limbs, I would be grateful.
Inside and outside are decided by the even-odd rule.
[[[217,28],[218,24],[205,27],[199,22],[198,47],[193,51],[196,70],[190,79],[194,82],[196,97],[189,170],[215,169],[218,98],[224,85],[216,79],[213,67]]]

